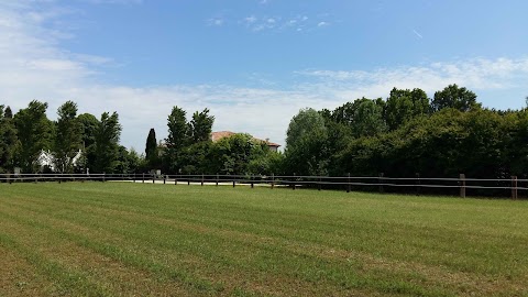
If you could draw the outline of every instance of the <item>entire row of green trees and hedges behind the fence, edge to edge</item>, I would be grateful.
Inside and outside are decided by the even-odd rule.
[[[117,112],[77,114],[67,101],[51,121],[46,109],[34,100],[13,114],[0,105],[1,173],[50,170],[38,162],[45,151],[63,173],[528,177],[528,110],[483,108],[457,85],[433,98],[419,88],[394,88],[386,99],[302,109],[290,120],[284,153],[244,133],[212,142],[215,117],[207,108],[187,120],[173,107],[167,138],[158,141],[151,129],[141,154],[119,144]]]

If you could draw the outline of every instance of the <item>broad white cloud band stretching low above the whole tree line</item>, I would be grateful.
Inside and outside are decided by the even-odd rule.
[[[417,87],[431,94],[457,82],[479,94],[526,86],[528,81],[528,58],[522,57],[460,59],[372,70],[307,69],[292,77],[305,82],[288,88],[278,88],[282,84],[274,85],[267,78],[255,88],[97,85],[90,82],[96,75],[94,68],[106,66],[112,59],[63,51],[59,37],[47,34],[42,25],[45,19],[26,19],[32,8],[20,3],[0,4],[0,89],[3,95],[0,103],[16,111],[32,99],[47,101],[48,116],[53,119],[66,100],[76,101],[80,112],[97,117],[103,111],[118,111],[123,125],[122,143],[138,151],[143,150],[150,128],[156,129],[160,139],[166,135],[166,118],[173,106],[180,106],[188,113],[209,108],[216,117],[216,130],[249,132],[284,144],[289,120],[300,108],[332,109],[363,96],[386,97],[393,87]],[[518,107],[522,103],[520,98]]]

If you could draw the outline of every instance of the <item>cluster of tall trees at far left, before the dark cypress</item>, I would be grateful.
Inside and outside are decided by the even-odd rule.
[[[0,105],[0,173],[86,172],[123,173],[139,162],[135,152],[119,144],[121,124],[117,112],[77,114],[67,101],[57,109],[57,120],[46,116],[47,103],[33,100],[13,114]],[[51,163],[42,165],[43,156]]]

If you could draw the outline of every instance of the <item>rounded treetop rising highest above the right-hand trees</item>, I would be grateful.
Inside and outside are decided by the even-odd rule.
[[[431,102],[431,109],[437,112],[444,108],[454,108],[460,111],[470,111],[480,109],[481,103],[476,102],[476,95],[466,88],[460,88],[454,85],[449,85],[441,91],[435,92],[435,98]]]

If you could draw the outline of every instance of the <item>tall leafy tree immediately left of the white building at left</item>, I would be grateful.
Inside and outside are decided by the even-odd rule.
[[[26,173],[38,169],[37,157],[52,146],[53,123],[46,117],[47,103],[33,100],[14,116],[20,141],[19,162]]]

